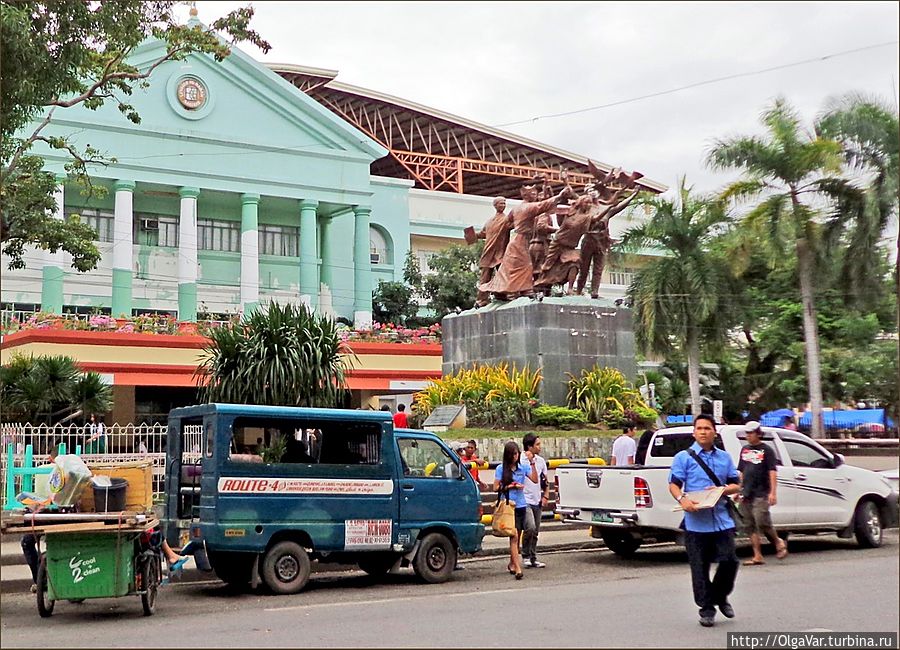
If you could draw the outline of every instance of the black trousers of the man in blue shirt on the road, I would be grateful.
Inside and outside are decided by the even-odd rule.
[[[737,577],[738,559],[734,549],[734,529],[713,533],[686,531],[684,542],[691,564],[694,602],[700,615],[713,615],[717,605],[728,602]],[[716,574],[709,579],[709,566],[718,562]]]

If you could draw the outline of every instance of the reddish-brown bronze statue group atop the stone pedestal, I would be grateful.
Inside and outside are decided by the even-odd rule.
[[[497,197],[496,213],[484,227],[477,233],[466,229],[470,244],[485,240],[477,307],[487,305],[491,295],[504,301],[543,298],[555,285],[564,286],[566,295],[579,295],[589,272],[591,298],[599,297],[600,277],[612,244],[609,220],[637,196],[636,181],[643,174],[626,174],[621,169],[604,174],[590,161],[588,166],[596,182],[588,184],[580,196],[565,177],[563,189],[556,194],[546,179],[535,177],[522,187],[522,203],[509,213],[506,199]]]

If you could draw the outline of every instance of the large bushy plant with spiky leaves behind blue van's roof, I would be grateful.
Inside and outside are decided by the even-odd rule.
[[[335,322],[305,305],[271,303],[210,332],[198,375],[207,402],[339,406],[348,366]]]

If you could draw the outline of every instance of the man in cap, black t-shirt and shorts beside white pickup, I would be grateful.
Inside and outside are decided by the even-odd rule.
[[[772,526],[771,506],[778,503],[778,468],[775,452],[762,441],[762,427],[751,420],[744,425],[747,444],[741,448],[738,473],[741,477],[741,517],[753,547],[753,557],[744,566],[765,564],[762,557],[762,537],[769,538],[775,546],[775,557],[787,557],[787,544],[778,537]]]

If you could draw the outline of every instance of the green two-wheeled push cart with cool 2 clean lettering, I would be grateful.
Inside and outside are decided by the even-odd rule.
[[[101,521],[67,523],[47,521],[66,515],[25,515],[23,525],[15,527],[45,540],[37,574],[42,617],[51,616],[59,601],[122,596],[140,596],[144,616],[153,614],[163,576],[162,550],[152,543],[159,521],[136,513],[110,514]]]

